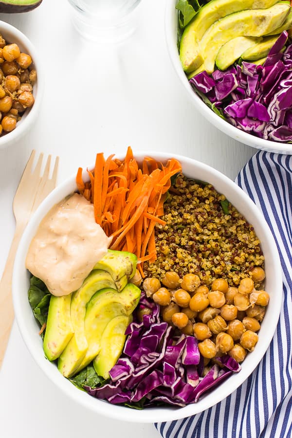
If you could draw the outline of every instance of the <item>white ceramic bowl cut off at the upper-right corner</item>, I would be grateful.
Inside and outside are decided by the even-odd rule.
[[[189,81],[183,72],[183,67],[180,61],[179,51],[177,47],[177,10],[175,9],[175,5],[177,0],[168,0],[166,2],[166,10],[165,10],[165,35],[166,35],[166,44],[168,47],[168,52],[175,68],[176,73],[179,76],[180,81],[182,82],[189,99],[193,102],[195,108],[201,112],[201,114],[206,117],[206,119],[212,123],[216,128],[220,129],[220,131],[224,132],[224,134],[229,135],[234,138],[238,142],[244,143],[246,145],[256,147],[257,149],[266,150],[269,152],[275,152],[278,154],[292,154],[292,144],[290,143],[279,143],[272,142],[270,140],[264,140],[262,138],[256,137],[255,135],[249,134],[248,132],[244,132],[241,129],[238,129],[231,125],[230,123],[223,120],[214,111],[212,111],[198,94],[193,90]]]

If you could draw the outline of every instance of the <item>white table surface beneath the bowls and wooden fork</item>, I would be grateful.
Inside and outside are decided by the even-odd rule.
[[[142,0],[135,33],[119,46],[75,32],[66,0],[26,14],[0,14],[41,54],[46,86],[31,132],[0,149],[0,274],[12,241],[12,201],[31,150],[60,156],[58,182],[95,154],[162,150],[196,158],[234,179],[255,153],[213,128],[188,101],[164,37],[167,0]],[[1,438],[154,438],[152,424],[107,420],[67,400],[37,367],[14,323],[0,372]]]

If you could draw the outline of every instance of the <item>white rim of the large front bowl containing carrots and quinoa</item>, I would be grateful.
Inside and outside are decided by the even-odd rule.
[[[134,153],[135,158],[138,160],[139,159],[141,160],[143,157],[149,155],[153,156],[157,160],[167,160],[171,157],[176,158],[180,160],[183,166],[189,165],[192,168],[195,167],[197,169],[196,171],[198,171],[199,169],[201,172],[208,174],[209,177],[210,176],[214,177],[214,179],[218,180],[218,183],[220,182],[223,185],[224,184],[229,185],[230,190],[234,192],[234,196],[238,195],[238,199],[240,199],[240,201],[243,202],[244,204],[246,203],[248,205],[249,211],[252,212],[251,214],[255,215],[256,218],[258,218],[258,224],[259,224],[258,226],[261,227],[263,234],[267,238],[269,248],[271,249],[270,254],[271,257],[273,258],[273,269],[274,269],[274,273],[276,274],[275,278],[273,279],[275,290],[280,291],[280,293],[282,294],[283,293],[282,271],[281,271],[280,258],[278,255],[274,237],[266,220],[264,219],[263,214],[256,206],[256,204],[249,198],[249,196],[227,176],[225,176],[218,170],[214,169],[213,167],[207,164],[203,164],[197,160],[184,157],[181,155],[169,154],[167,152],[149,153],[149,152],[141,151],[138,153]],[[121,158],[121,156],[119,155],[116,158]],[[94,168],[94,165],[89,166],[88,168]],[[84,170],[84,172],[86,172],[86,169]],[[169,406],[151,407],[141,411],[135,410],[135,415],[131,415],[132,410],[129,409],[127,415],[127,411],[125,410],[124,406],[112,405],[106,401],[95,399],[93,397],[90,397],[87,393],[80,391],[79,389],[77,392],[77,388],[75,388],[75,386],[68,379],[64,379],[64,377],[58,372],[57,368],[55,366],[52,366],[51,363],[45,359],[43,350],[42,350],[42,354],[39,354],[38,352],[39,347],[35,348],[34,346],[35,336],[32,335],[31,332],[32,330],[29,329],[29,324],[27,321],[27,316],[25,316],[25,311],[22,311],[23,308],[21,306],[21,296],[22,296],[21,293],[23,292],[23,283],[21,283],[21,280],[19,283],[18,273],[19,272],[21,273],[21,270],[26,271],[23,266],[24,257],[28,245],[31,241],[31,238],[35,234],[35,230],[39,221],[45,216],[45,214],[49,211],[49,209],[53,205],[55,205],[55,203],[61,201],[61,199],[63,199],[69,193],[72,193],[74,190],[76,190],[75,174],[69,177],[63,183],[59,184],[55,188],[55,190],[46,198],[46,200],[40,204],[40,206],[38,207],[37,211],[34,213],[33,217],[29,221],[23,233],[23,236],[18,246],[18,252],[15,258],[14,269],[13,269],[13,280],[12,280],[12,293],[13,293],[13,304],[15,309],[16,320],[18,323],[19,331],[24,340],[24,343],[26,344],[28,350],[30,351],[37,365],[42,369],[42,371],[46,374],[49,380],[52,381],[52,383],[54,383],[64,394],[69,396],[75,402],[80,403],[83,407],[90,409],[95,413],[101,414],[105,417],[113,418],[115,420],[124,420],[130,422],[161,422],[161,421],[178,420],[181,418],[189,417],[191,415],[200,413],[205,409],[214,406],[218,402],[223,401],[249,377],[249,375],[255,370],[256,366],[258,365],[258,363],[264,356],[266,350],[268,349],[272,341],[272,338],[274,336],[277,321],[279,318],[281,301],[282,301],[281,299],[275,300],[276,302],[273,305],[274,320],[272,322],[269,322],[269,325],[267,325],[269,329],[269,333],[268,334],[265,333],[265,336],[261,338],[261,344],[260,344],[261,353],[259,354],[259,349],[258,350],[255,349],[253,353],[250,353],[250,354],[255,353],[253,359],[252,360],[250,359],[248,362],[248,364],[252,362],[252,366],[248,367],[248,365],[246,365],[246,367],[243,367],[241,369],[240,373],[231,375],[225,381],[225,382],[229,382],[229,385],[225,384],[222,386],[221,384],[219,386],[220,391],[217,391],[216,394],[214,393],[215,392],[214,390],[210,394],[207,394],[205,397],[203,397],[199,402],[186,405],[185,407],[182,408],[173,408]],[[26,306],[27,305],[29,306],[27,295],[25,299],[27,301]],[[32,315],[31,309],[30,312]],[[40,339],[37,333],[36,333],[36,337]],[[37,342],[39,344],[39,341]],[[42,349],[42,342],[41,342],[41,349]]]

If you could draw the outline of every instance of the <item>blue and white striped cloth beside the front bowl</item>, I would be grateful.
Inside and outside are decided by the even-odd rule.
[[[156,423],[164,438],[292,437],[292,156],[257,152],[236,183],[262,210],[279,250],[284,291],[279,322],[251,376],[201,414]]]

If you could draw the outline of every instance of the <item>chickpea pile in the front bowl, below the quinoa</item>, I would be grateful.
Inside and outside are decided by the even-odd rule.
[[[238,288],[217,278],[209,289],[196,274],[180,278],[176,272],[166,272],[162,284],[148,277],[143,288],[160,305],[165,322],[198,339],[206,363],[225,353],[239,363],[254,350],[269,303],[269,294],[261,289],[264,270],[255,267],[249,275]]]

